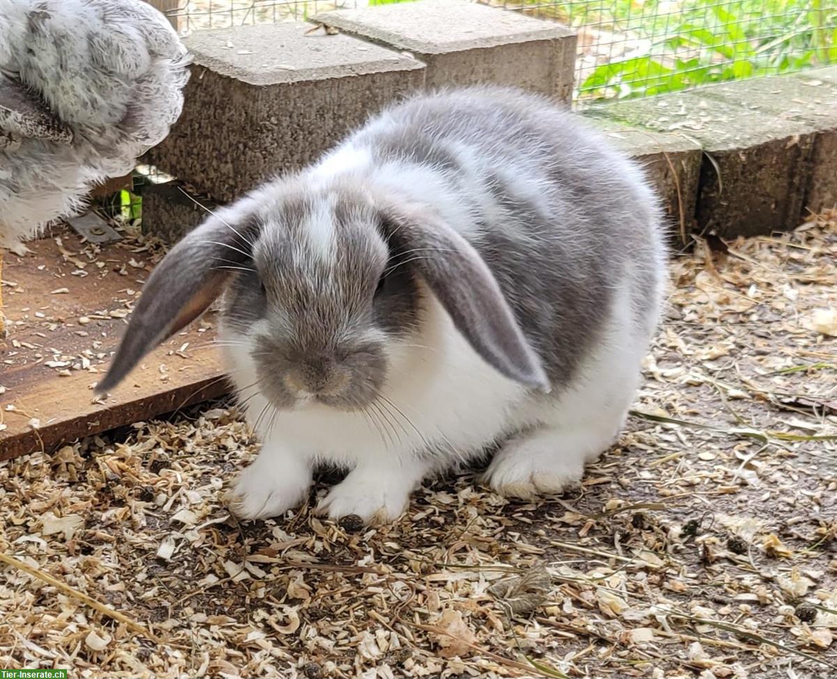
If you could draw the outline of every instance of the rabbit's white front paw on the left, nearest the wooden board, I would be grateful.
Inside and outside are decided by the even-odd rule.
[[[227,495],[229,510],[238,518],[281,516],[299,504],[311,486],[311,470],[304,463],[270,457],[263,461],[263,456],[241,472]]]

